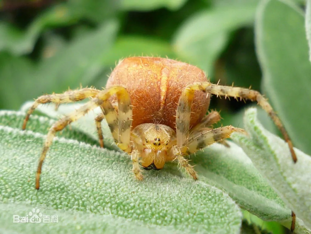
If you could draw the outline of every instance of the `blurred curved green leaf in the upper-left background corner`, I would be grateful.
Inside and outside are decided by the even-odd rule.
[[[70,8],[59,4],[42,13],[24,32],[11,24],[0,22],[0,51],[7,50],[14,55],[31,53],[46,27],[70,25],[77,19],[78,16]]]

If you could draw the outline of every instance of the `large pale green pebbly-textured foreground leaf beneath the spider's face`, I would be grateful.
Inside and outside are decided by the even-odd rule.
[[[9,119],[10,115],[17,120],[16,112],[0,114]],[[16,126],[22,124],[23,118],[19,115],[18,119]],[[41,126],[36,121],[32,124],[40,129],[42,125],[49,127],[46,121]],[[240,230],[242,214],[234,201],[203,181],[184,178],[176,164],[145,173],[144,181],[139,182],[131,176],[128,155],[66,138],[53,142],[44,162],[40,190],[36,191],[36,156],[44,139],[38,132],[0,126],[0,208],[7,211],[1,213],[0,226],[5,232]],[[34,207],[46,215],[58,215],[58,223],[23,227],[12,222],[13,215],[26,216]],[[113,227],[118,222],[124,224]]]

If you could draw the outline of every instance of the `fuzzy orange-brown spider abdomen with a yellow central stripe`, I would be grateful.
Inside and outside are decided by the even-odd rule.
[[[142,123],[158,122],[175,129],[176,109],[183,89],[194,82],[206,81],[201,69],[187,63],[155,57],[130,57],[115,67],[106,88],[122,85],[128,90],[133,106],[133,128]],[[195,92],[190,127],[205,116],[210,103],[210,95],[206,96],[206,93]]]

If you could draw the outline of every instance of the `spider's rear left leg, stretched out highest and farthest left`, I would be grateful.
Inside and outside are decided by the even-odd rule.
[[[56,107],[58,107],[59,104],[62,103],[78,102],[85,98],[95,97],[96,94],[99,92],[100,90],[97,90],[95,88],[82,88],[79,90],[69,90],[62,94],[54,93],[42,95],[35,100],[35,103],[32,104],[32,106],[27,111],[22,129],[23,130],[26,129],[26,124],[29,120],[31,113],[34,112],[34,110],[38,107],[39,104],[56,103]]]

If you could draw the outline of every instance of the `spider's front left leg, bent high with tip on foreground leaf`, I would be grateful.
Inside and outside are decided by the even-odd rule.
[[[63,130],[68,124],[76,121],[77,119],[84,116],[90,110],[98,106],[102,106],[105,102],[109,102],[108,99],[116,94],[118,98],[118,109],[119,115],[116,116],[116,119],[112,119],[111,117],[115,117],[114,115],[109,115],[114,108],[111,106],[111,110],[105,109],[104,115],[108,122],[108,125],[111,128],[118,128],[118,136],[114,138],[117,142],[117,145],[122,150],[128,150],[128,145],[130,142],[130,126],[132,124],[132,107],[131,107],[131,100],[127,90],[122,86],[112,86],[105,90],[100,91],[96,97],[91,99],[88,103],[77,109],[76,111],[70,113],[69,115],[61,118],[57,122],[55,122],[52,127],[49,129],[47,138],[44,142],[44,147],[41,152],[38,169],[36,174],[36,189],[40,187],[40,174],[42,165],[46,156],[49,147],[52,145],[53,138],[57,131]]]

